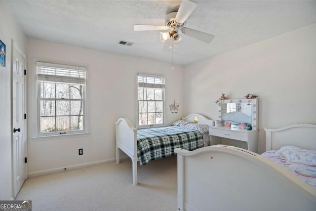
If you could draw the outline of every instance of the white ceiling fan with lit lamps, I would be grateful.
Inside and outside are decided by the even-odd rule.
[[[160,32],[160,40],[161,42],[165,42],[163,46],[164,50],[170,48],[170,43],[173,46],[173,43],[178,44],[182,41],[182,36],[179,34],[180,31],[184,35],[210,43],[214,35],[184,27],[187,18],[196,7],[197,4],[195,2],[182,0],[177,12],[167,14],[165,25],[134,25],[134,31],[170,30],[170,32]]]

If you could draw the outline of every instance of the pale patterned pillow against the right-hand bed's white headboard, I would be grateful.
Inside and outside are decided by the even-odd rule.
[[[284,146],[276,152],[280,159],[285,159],[291,162],[316,166],[316,151],[302,149],[295,146]]]

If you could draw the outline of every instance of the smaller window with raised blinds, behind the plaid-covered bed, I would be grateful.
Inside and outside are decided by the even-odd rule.
[[[138,74],[138,126],[163,125],[164,78]]]

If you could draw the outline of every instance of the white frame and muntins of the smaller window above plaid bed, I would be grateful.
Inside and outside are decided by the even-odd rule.
[[[153,85],[153,87],[144,87],[144,88],[154,88],[154,89],[162,89],[162,96],[161,96],[161,100],[140,100],[138,99],[138,89],[140,88],[139,86],[139,77],[148,77],[148,78],[157,78],[157,79],[161,79],[161,84],[157,84],[157,85]],[[160,127],[160,126],[164,126],[165,125],[165,77],[161,76],[161,75],[149,75],[149,74],[142,74],[142,73],[138,73],[137,77],[136,77],[136,82],[137,82],[137,90],[136,90],[136,127],[137,128],[144,128],[144,127]],[[151,83],[149,83],[151,84]],[[155,87],[156,86],[156,87]],[[160,87],[158,87],[160,86]],[[162,102],[162,123],[161,124],[152,124],[152,125],[139,125],[139,102],[140,101],[147,101],[147,102]],[[148,106],[147,106],[148,108]],[[148,112],[148,113],[152,113],[152,112]],[[157,112],[154,112],[157,113]]]

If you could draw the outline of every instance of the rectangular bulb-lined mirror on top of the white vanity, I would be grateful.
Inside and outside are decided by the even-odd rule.
[[[219,118],[222,125],[224,122],[231,123],[231,127],[239,127],[241,123],[250,125],[253,130],[257,129],[257,103],[258,99],[226,99],[221,102]]]

